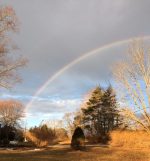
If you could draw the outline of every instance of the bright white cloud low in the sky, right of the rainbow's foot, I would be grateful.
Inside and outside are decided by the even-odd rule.
[[[80,107],[80,99],[36,99],[26,110],[28,126],[40,124],[43,120],[60,120],[67,112],[73,112]]]

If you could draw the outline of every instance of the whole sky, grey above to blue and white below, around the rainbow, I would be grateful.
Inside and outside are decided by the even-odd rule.
[[[25,106],[35,93],[77,58],[105,45],[150,35],[149,0],[0,0],[14,8],[20,21],[12,36],[28,65],[23,79],[1,99],[18,99]],[[78,61],[50,82],[26,109],[29,126],[45,119],[61,119],[80,107],[97,85],[112,80],[111,67],[123,58],[128,43],[119,44]]]

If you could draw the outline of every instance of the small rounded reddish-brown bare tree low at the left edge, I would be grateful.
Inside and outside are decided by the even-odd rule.
[[[0,101],[0,123],[3,126],[15,127],[24,117],[24,107],[16,100]]]

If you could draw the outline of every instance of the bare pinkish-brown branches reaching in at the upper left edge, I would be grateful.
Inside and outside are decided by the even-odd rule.
[[[17,49],[9,39],[9,33],[18,31],[18,20],[12,7],[0,7],[0,86],[12,87],[20,81],[17,69],[27,60],[12,54]]]

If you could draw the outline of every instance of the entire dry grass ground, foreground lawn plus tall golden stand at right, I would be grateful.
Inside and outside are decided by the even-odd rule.
[[[108,146],[74,151],[61,145],[41,151],[0,150],[0,161],[150,161],[150,139],[144,132],[113,132]]]

